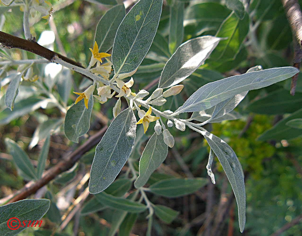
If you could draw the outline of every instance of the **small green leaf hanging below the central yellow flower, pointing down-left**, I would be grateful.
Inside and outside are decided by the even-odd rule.
[[[164,142],[164,136],[154,133],[149,139],[140,158],[140,175],[134,182],[136,188],[142,187],[148,181],[150,175],[165,160],[168,154],[168,146]]]

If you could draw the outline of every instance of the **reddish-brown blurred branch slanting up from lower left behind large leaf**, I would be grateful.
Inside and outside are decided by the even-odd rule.
[[[104,126],[100,131],[98,131],[96,134],[91,136],[85,143],[79,146],[79,148],[77,148],[72,153],[64,156],[62,160],[59,161],[55,166],[47,170],[43,174],[41,179],[37,180],[36,182],[33,181],[28,182],[23,188],[18,190],[15,196],[12,197],[7,203],[12,203],[25,199],[29,195],[34,194],[38,189],[43,187],[49,181],[56,178],[56,176],[58,176],[60,173],[71,168],[85,152],[89,151],[93,146],[95,146],[100,142],[106,130],[107,130],[107,126]],[[8,199],[6,197],[5,199],[0,200],[0,204],[1,203],[3,204],[5,200]]]

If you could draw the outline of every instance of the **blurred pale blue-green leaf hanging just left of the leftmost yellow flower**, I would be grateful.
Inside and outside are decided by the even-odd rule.
[[[72,87],[72,75],[69,69],[63,67],[56,85],[57,85],[57,91],[61,96],[64,104],[67,104],[67,99],[69,97],[70,90]]]

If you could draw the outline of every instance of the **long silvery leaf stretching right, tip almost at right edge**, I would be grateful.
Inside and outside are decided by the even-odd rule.
[[[297,72],[294,67],[271,68],[207,83],[193,93],[175,114],[203,111],[236,94],[269,86],[292,77]]]

